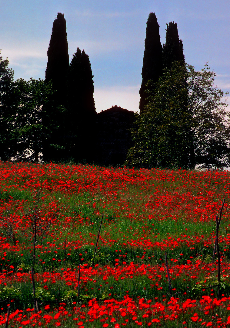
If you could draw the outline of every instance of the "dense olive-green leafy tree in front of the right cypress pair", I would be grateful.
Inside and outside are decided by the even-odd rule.
[[[185,65],[175,62],[155,83],[146,110],[137,116],[132,132],[134,146],[128,152],[127,163],[167,168],[190,166],[192,139],[185,75]]]

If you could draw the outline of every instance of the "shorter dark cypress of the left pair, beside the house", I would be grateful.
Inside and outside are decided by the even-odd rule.
[[[92,161],[96,119],[94,82],[89,56],[79,48],[70,63],[67,89],[66,133],[69,136],[69,156],[79,161]]]

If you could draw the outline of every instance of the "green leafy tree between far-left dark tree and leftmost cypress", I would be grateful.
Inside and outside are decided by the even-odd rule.
[[[15,82],[12,134],[15,142],[13,157],[16,160],[38,162],[42,159],[44,135],[49,134],[42,124],[42,107],[47,105],[52,93],[51,83],[41,79],[18,79]]]

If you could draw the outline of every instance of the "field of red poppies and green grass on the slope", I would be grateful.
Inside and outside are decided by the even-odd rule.
[[[0,162],[0,326],[230,327],[229,193],[228,171]]]

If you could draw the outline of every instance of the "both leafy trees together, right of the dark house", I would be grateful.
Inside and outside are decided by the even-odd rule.
[[[205,64],[174,62],[137,116],[127,163],[148,167],[223,168],[230,165],[230,113],[215,73]],[[186,80],[186,82],[185,82]]]

